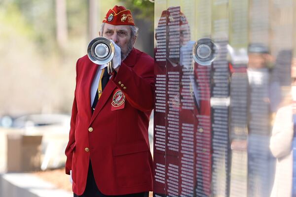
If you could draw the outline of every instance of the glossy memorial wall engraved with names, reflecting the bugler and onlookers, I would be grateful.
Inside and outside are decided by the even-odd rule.
[[[154,3],[153,196],[296,195],[295,0]]]

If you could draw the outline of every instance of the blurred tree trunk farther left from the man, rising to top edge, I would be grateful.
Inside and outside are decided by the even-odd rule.
[[[68,41],[66,0],[56,0],[56,36],[60,48],[65,48]]]

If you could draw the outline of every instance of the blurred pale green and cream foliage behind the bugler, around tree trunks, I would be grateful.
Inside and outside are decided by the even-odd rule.
[[[66,0],[67,43],[61,47],[56,2],[0,0],[0,84],[9,84],[0,86],[0,116],[71,112],[75,62],[85,55],[89,39],[89,4],[88,0]],[[97,2],[100,26],[107,10],[118,1]],[[148,0],[124,5],[136,20],[153,20],[154,4]]]

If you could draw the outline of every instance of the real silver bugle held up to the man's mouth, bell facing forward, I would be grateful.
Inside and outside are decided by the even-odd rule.
[[[97,65],[108,64],[108,73],[113,71],[112,58],[115,49],[112,42],[106,37],[97,37],[91,40],[87,46],[88,58]]]

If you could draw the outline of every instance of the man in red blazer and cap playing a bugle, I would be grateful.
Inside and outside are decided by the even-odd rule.
[[[98,82],[106,65],[87,56],[76,63],[65,151],[74,197],[146,197],[152,191],[148,125],[154,105],[153,59],[133,48],[137,32],[130,10],[114,6],[108,11],[100,36],[114,43],[115,71],[104,89]]]

